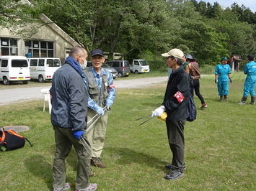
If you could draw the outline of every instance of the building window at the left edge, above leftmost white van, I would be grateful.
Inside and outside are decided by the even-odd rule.
[[[17,39],[0,38],[0,55],[18,55]]]

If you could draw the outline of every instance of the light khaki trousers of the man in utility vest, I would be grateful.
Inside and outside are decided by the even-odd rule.
[[[102,154],[107,130],[108,114],[109,111],[105,110],[104,115],[100,116],[100,118],[95,122],[95,124],[92,127],[90,127],[89,131],[87,132],[87,140],[89,141],[89,144],[92,146],[92,157],[100,157]],[[97,112],[88,108],[87,121],[89,121],[95,115],[97,115]],[[95,117],[93,121],[87,125],[87,128],[97,119],[97,117]]]

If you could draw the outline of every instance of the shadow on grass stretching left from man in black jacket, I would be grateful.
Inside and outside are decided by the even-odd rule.
[[[165,169],[165,165],[169,164],[169,162],[164,162],[159,158],[151,156],[151,154],[146,154],[144,152],[137,152],[128,148],[117,148],[106,146],[106,152],[110,153],[110,157],[114,159],[115,163],[120,165],[128,165],[128,164],[141,164],[146,165],[150,168],[162,169],[164,172],[167,171]],[[169,151],[171,152],[171,151]],[[170,161],[172,158],[170,158]]]

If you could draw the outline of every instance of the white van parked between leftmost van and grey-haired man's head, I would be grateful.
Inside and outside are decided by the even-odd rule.
[[[27,59],[30,62],[31,79],[40,83],[51,80],[53,73],[61,67],[61,60],[56,57],[32,57]]]

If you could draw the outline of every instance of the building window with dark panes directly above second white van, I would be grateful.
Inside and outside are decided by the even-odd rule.
[[[53,42],[29,40],[25,42],[27,57],[54,57]]]

